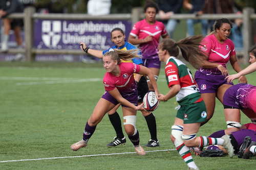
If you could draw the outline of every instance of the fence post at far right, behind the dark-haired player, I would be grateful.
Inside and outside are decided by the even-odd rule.
[[[254,13],[253,8],[251,7],[245,7],[243,9],[243,25],[244,25],[244,30],[243,30],[243,44],[244,44],[244,64],[249,64],[249,55],[248,55],[248,50],[249,47],[253,44],[252,42],[252,24],[251,24],[251,18],[250,15]]]

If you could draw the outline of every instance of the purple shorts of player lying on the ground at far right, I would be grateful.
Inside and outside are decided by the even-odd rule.
[[[237,132],[232,132],[232,135],[238,142],[238,151],[246,136],[250,136],[251,141],[256,141],[256,132],[250,129],[241,129]]]

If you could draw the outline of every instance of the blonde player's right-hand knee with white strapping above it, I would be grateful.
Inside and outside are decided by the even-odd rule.
[[[137,133],[136,115],[123,116],[123,125],[127,135],[129,136],[135,135]]]

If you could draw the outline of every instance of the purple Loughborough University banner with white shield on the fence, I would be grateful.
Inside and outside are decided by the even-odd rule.
[[[107,50],[112,29],[119,27],[129,36],[131,20],[42,20],[34,22],[34,47],[50,49],[80,49],[80,41],[94,50]]]

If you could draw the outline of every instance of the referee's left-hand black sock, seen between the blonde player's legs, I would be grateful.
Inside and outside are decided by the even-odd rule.
[[[113,125],[115,131],[116,131],[116,136],[117,138],[123,138],[123,131],[122,131],[122,124],[121,124],[121,119],[120,116],[117,112],[114,114],[109,115],[110,122]]]

